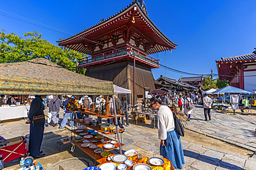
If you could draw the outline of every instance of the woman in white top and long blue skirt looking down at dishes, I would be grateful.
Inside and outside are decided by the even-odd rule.
[[[181,137],[176,131],[174,114],[172,110],[162,105],[161,100],[153,97],[150,99],[150,107],[158,110],[158,138],[161,140],[160,155],[170,160],[174,169],[183,169],[185,164]]]

